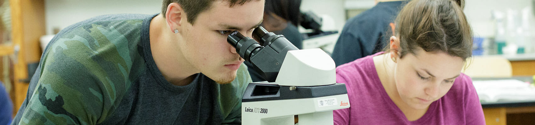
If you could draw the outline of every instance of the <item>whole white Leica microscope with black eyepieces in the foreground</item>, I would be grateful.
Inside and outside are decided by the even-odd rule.
[[[290,125],[297,115],[300,125],[332,125],[333,110],[349,108],[346,86],[336,83],[334,61],[322,49],[297,49],[263,27],[253,31],[253,38],[238,31],[227,37],[267,80],[247,86],[242,124]]]

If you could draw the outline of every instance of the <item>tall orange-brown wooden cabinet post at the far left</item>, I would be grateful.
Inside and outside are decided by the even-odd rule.
[[[41,48],[39,38],[45,35],[44,31],[44,1],[9,0],[11,8],[11,39],[12,53],[16,52],[13,60],[13,113],[16,114],[20,105],[26,98],[28,91],[28,64],[39,63]],[[18,46],[18,47],[17,47]],[[13,47],[19,48],[13,49]],[[3,49],[2,49],[3,50]],[[6,51],[7,52],[7,51]],[[6,53],[10,54],[10,53]]]

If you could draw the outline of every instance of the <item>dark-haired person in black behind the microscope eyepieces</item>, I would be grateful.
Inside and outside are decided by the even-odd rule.
[[[299,26],[301,11],[301,0],[269,0],[265,3],[264,20],[261,24],[269,32],[276,35],[284,35],[295,47],[303,49],[303,36],[297,30]],[[265,81],[256,70],[253,64],[244,62],[249,68],[253,82]]]

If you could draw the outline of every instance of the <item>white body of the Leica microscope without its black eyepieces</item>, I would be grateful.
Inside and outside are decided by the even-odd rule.
[[[333,110],[349,108],[345,84],[322,49],[288,51],[276,82],[253,82],[242,99],[242,124],[332,125]]]

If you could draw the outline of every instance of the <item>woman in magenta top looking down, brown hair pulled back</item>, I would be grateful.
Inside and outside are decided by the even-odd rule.
[[[348,109],[334,124],[485,124],[472,80],[463,0],[412,0],[395,20],[385,52],[338,66]]]

